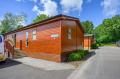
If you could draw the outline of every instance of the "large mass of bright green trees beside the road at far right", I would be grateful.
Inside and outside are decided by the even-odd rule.
[[[94,30],[96,41],[110,43],[120,40],[120,15],[104,19],[102,24]]]

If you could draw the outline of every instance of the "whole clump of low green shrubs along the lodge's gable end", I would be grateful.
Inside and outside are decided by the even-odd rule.
[[[87,50],[78,50],[76,52],[71,53],[68,56],[69,61],[78,61],[84,58],[88,54]]]

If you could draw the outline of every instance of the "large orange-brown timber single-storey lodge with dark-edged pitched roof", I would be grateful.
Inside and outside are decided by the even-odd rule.
[[[11,45],[33,58],[62,62],[84,48],[84,29],[78,18],[60,14],[6,33],[5,42],[9,53]]]

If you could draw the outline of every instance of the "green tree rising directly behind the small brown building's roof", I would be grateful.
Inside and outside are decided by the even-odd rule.
[[[93,33],[94,25],[91,21],[82,22],[82,26],[83,26],[86,34],[92,34]]]

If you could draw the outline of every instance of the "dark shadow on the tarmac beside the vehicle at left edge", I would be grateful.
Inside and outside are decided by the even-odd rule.
[[[5,62],[0,62],[0,69],[6,68],[6,67],[11,67],[14,65],[19,65],[19,64],[21,64],[21,63],[14,61],[14,60],[7,59]]]

